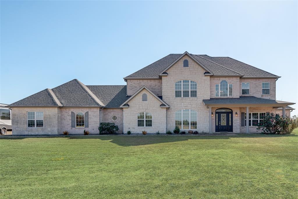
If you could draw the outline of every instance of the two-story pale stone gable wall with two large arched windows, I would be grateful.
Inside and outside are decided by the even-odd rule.
[[[183,67],[183,61],[187,59],[189,67]],[[170,105],[167,110],[167,130],[175,128],[175,112],[180,109],[193,109],[197,111],[197,130],[209,132],[209,109],[203,104],[203,99],[210,98],[210,77],[190,57],[185,55],[171,68],[168,75],[162,77],[162,99]],[[192,80],[197,82],[196,98],[175,98],[175,82],[179,80]],[[188,130],[188,129],[185,129]]]

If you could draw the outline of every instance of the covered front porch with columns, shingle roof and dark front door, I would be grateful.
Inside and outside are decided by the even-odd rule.
[[[211,98],[203,100],[209,108],[209,132],[259,133],[257,124],[269,113],[295,103],[257,97]]]

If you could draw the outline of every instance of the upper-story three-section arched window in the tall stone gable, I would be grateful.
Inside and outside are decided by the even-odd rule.
[[[175,83],[175,97],[197,97],[197,82],[191,80],[177,81]]]

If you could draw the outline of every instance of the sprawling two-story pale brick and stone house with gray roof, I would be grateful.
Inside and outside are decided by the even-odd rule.
[[[74,79],[10,104],[13,134],[119,132],[256,132],[267,113],[290,116],[277,101],[280,76],[229,57],[170,54],[124,78],[123,86],[86,86]]]

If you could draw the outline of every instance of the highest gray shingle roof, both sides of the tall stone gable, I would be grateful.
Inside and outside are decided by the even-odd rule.
[[[159,74],[182,54],[170,54],[156,62],[138,70],[125,78],[159,78]],[[245,64],[229,57],[211,57],[208,55],[193,55],[201,64],[209,69],[213,75],[238,75],[243,77],[276,77],[270,72]],[[124,79],[125,79],[124,78]]]

